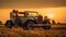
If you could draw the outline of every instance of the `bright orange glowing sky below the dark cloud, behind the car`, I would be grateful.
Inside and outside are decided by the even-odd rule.
[[[0,9],[0,21],[3,23],[9,20],[10,12],[13,9]],[[43,16],[53,14],[52,20],[56,22],[65,22],[66,23],[66,7],[62,8],[44,8],[44,9],[16,9],[19,11],[37,11]]]

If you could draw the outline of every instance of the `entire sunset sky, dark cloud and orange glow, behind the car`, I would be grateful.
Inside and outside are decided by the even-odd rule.
[[[9,20],[10,12],[37,11],[43,16],[52,14],[52,20],[66,23],[66,0],[0,0],[0,21]]]

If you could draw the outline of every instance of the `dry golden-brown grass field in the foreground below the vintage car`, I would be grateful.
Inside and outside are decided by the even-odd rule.
[[[66,29],[43,29],[34,28],[33,30],[24,30],[21,27],[13,27],[11,29],[0,27],[0,37],[66,37]]]

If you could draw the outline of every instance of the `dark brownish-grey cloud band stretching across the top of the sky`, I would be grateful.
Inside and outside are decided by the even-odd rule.
[[[0,0],[0,9],[66,7],[66,0]]]

